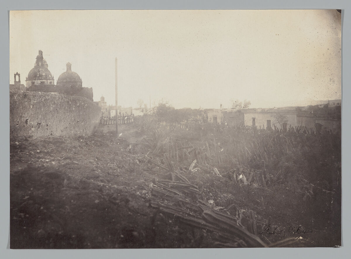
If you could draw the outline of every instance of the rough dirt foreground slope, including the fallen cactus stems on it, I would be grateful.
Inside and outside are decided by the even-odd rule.
[[[11,248],[333,246],[339,235],[288,185],[270,192],[189,170],[190,155],[149,154],[136,124],[120,131],[11,139]]]

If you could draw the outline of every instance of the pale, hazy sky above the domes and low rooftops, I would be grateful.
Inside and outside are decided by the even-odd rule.
[[[38,50],[54,75],[71,62],[94,101],[176,108],[308,105],[341,99],[336,10],[11,11],[10,83],[25,84]]]

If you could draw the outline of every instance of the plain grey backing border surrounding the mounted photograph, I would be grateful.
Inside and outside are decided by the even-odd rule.
[[[278,0],[269,1],[115,1],[109,3],[107,0],[100,1],[61,1],[60,3],[47,1],[3,1],[2,22],[1,22],[1,75],[2,79],[9,78],[9,42],[8,42],[8,15],[9,10],[37,10],[37,9],[342,9],[342,247],[337,248],[275,248],[275,250],[263,251],[263,248],[226,248],[226,249],[177,249],[170,251],[169,249],[120,249],[120,250],[10,250],[9,249],[9,89],[8,82],[1,87],[1,93],[5,97],[1,102],[1,120],[5,121],[5,127],[1,127],[1,207],[5,208],[1,211],[1,254],[4,258],[179,258],[182,257],[237,257],[237,256],[257,256],[264,258],[285,257],[297,258],[300,256],[330,258],[335,256],[343,256],[350,252],[350,220],[347,215],[350,215],[350,188],[345,183],[350,182],[350,135],[347,134],[347,129],[350,126],[350,121],[347,120],[347,111],[350,110],[350,1],[289,1],[282,2]],[[5,14],[6,12],[6,14]],[[346,13],[346,14],[345,14]],[[345,33],[346,32],[346,33]],[[344,87],[345,86],[345,87]],[[346,100],[346,101],[345,101]],[[346,111],[346,112],[345,112]],[[345,217],[345,218],[344,218]],[[233,250],[235,249],[235,250]]]

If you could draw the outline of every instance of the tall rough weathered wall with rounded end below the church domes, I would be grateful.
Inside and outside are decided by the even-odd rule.
[[[10,138],[91,135],[101,108],[78,96],[10,89]]]

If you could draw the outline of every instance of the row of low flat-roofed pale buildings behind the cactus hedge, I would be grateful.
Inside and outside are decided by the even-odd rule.
[[[254,126],[261,129],[289,130],[290,127],[306,127],[308,131],[322,133],[341,132],[341,100],[333,100],[326,106],[213,109],[207,111],[207,122],[229,126]],[[330,114],[318,114],[315,109],[330,109]],[[336,112],[334,112],[334,110]]]

